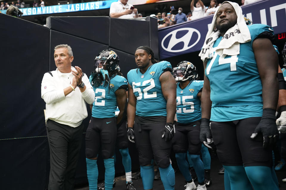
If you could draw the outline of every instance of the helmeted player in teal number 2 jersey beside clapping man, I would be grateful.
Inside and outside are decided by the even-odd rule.
[[[118,70],[119,58],[112,50],[103,50],[94,60],[95,71],[89,81],[94,87],[92,117],[86,130],[86,167],[89,189],[97,189],[97,156],[99,151],[105,167],[105,189],[114,184],[114,150],[117,127],[126,120],[127,80]],[[119,108],[117,119],[116,107]]]

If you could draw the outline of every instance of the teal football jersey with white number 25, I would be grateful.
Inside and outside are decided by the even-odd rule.
[[[177,119],[178,123],[188,124],[202,118],[198,93],[203,88],[203,80],[193,80],[181,89],[177,84]]]

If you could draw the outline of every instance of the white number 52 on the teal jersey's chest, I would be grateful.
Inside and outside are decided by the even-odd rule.
[[[150,85],[143,89],[144,99],[156,98],[157,97],[157,92],[153,92],[152,94],[148,94],[148,91],[155,87],[154,79],[151,78],[149,80],[144,80],[142,82],[142,85],[146,85],[148,83],[150,83]],[[141,89],[140,88],[135,88],[135,86],[140,86],[140,85],[141,85],[141,82],[138,82],[138,83],[132,82],[133,93],[138,92],[138,94],[139,94],[139,96],[136,97],[137,100],[141,100],[142,99]]]

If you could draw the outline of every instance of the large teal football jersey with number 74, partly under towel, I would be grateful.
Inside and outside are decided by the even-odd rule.
[[[270,26],[263,24],[253,24],[248,29],[251,41],[240,43],[238,55],[223,58],[214,52],[214,57],[207,61],[205,75],[211,87],[211,121],[262,116],[262,84],[252,43],[263,32],[269,36],[274,34]],[[214,49],[222,38],[215,41]],[[258,107],[261,109],[257,110]]]

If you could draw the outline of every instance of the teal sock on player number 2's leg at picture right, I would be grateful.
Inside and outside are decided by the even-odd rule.
[[[115,169],[114,169],[114,159],[103,159],[105,167],[105,190],[111,190],[113,187]]]

